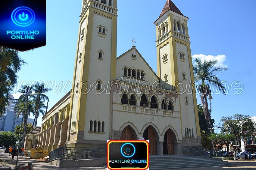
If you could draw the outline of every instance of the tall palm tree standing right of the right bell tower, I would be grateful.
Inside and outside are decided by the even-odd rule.
[[[225,67],[215,67],[217,64],[217,60],[215,61],[201,61],[200,58],[195,59],[195,64],[193,66],[193,71],[195,75],[195,81],[199,82],[200,84],[196,85],[196,88],[199,92],[201,103],[203,105],[203,113],[205,122],[208,126],[208,133],[210,134],[211,129],[211,86],[218,88],[223,94],[226,94],[225,87],[221,84],[220,79],[216,76],[217,73],[222,71],[226,71],[227,68]],[[209,96],[210,100],[210,109],[208,107],[208,100],[207,97]],[[212,145],[210,145],[212,148]]]

